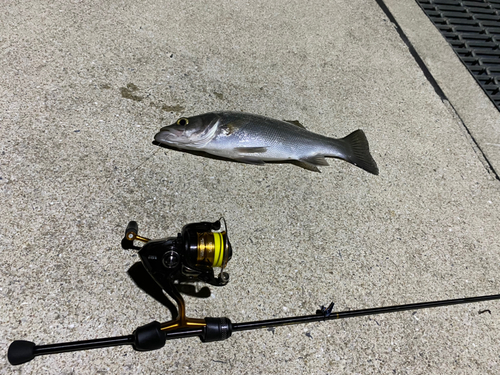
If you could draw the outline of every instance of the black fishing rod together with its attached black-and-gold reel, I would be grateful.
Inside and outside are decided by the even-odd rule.
[[[180,291],[184,294],[208,297],[208,288],[204,287],[196,292],[191,283],[203,281],[213,286],[224,286],[229,281],[229,275],[224,269],[232,257],[232,247],[224,220],[224,230],[221,230],[221,220],[188,224],[177,237],[158,240],[139,236],[138,225],[134,221],[131,221],[125,230],[122,247],[139,250],[141,260],[129,269],[128,274],[139,288],[170,310],[172,320],[164,323],[153,321],[126,336],[49,345],[35,345],[30,341],[16,340],[9,346],[9,362],[12,365],[20,365],[41,355],[121,345],[131,345],[137,351],[150,351],[162,348],[167,340],[186,337],[199,337],[202,342],[222,341],[231,337],[234,332],[500,299],[500,294],[495,294],[339,312],[333,311],[332,302],[328,307],[321,306],[312,315],[243,323],[233,323],[226,317],[188,318]],[[135,246],[134,241],[143,242],[145,245]],[[220,268],[217,276],[214,267]],[[165,293],[174,300],[175,305]]]

